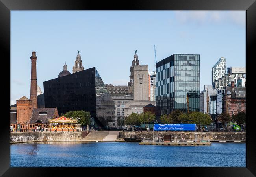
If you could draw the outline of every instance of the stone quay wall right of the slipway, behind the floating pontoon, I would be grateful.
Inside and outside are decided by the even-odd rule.
[[[174,132],[155,131],[154,136],[171,135],[174,137]],[[124,138],[125,141],[140,141],[142,138],[153,137],[153,132],[136,131],[136,132],[119,132],[118,138]],[[211,142],[246,142],[246,132],[175,132],[175,137],[178,139],[204,139]]]

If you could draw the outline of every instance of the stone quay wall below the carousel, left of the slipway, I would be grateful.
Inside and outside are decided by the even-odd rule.
[[[10,143],[37,141],[79,141],[87,136],[89,131],[80,132],[12,132]]]

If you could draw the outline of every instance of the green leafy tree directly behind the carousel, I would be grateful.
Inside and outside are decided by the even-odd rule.
[[[67,118],[75,118],[78,119],[78,123],[82,126],[89,125],[91,122],[91,114],[90,112],[86,112],[83,110],[80,111],[67,111],[65,114],[61,114],[61,116],[65,116]]]

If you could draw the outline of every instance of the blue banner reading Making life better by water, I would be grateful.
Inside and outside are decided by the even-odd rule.
[[[154,124],[154,131],[182,131],[182,130],[193,130],[195,131],[196,124]]]

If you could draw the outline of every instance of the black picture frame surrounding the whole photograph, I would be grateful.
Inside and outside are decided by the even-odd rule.
[[[9,109],[4,105],[0,129],[0,175],[2,176],[59,176],[59,175],[158,175],[182,174],[189,176],[256,176],[256,138],[254,130],[254,88],[252,71],[256,46],[256,2],[255,0],[137,0],[137,1],[93,1],[93,0],[0,0],[0,27],[2,33],[2,67],[10,64],[10,11],[11,10],[246,10],[246,68],[247,68],[247,140],[246,140],[246,168],[10,168],[9,153]],[[36,30],[36,29],[35,29]],[[33,42],[33,41],[32,41]],[[249,65],[248,65],[249,64]],[[249,68],[249,69],[248,69]],[[11,69],[11,68],[10,68]],[[3,72],[3,71],[2,71]],[[2,73],[2,96],[10,100],[7,83],[10,77]],[[249,81],[248,81],[249,80]],[[9,90],[8,90],[9,89]],[[6,107],[6,109],[5,109]],[[6,126],[7,125],[7,126]],[[232,152],[230,152],[232,155]],[[111,173],[112,172],[112,173]]]

